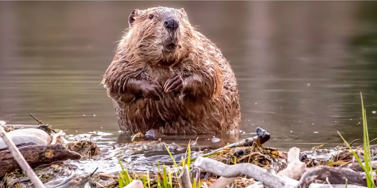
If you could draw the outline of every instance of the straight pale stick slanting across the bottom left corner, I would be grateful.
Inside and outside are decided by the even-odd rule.
[[[28,162],[26,162],[25,158],[21,155],[20,150],[18,150],[14,143],[8,138],[5,130],[3,129],[3,126],[0,126],[0,136],[4,140],[5,144],[8,146],[9,151],[12,153],[14,159],[20,165],[22,170],[26,171],[26,174],[29,176],[33,185],[36,188],[45,188],[41,180],[34,173],[33,169],[29,166]]]

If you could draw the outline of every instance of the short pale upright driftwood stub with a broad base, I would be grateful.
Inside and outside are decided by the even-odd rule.
[[[300,161],[299,155],[300,149],[292,147],[288,152],[287,168],[277,173],[277,175],[299,180],[306,168],[305,162]]]

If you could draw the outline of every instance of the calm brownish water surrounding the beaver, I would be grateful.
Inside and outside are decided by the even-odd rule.
[[[257,126],[271,133],[267,145],[284,149],[339,144],[337,130],[361,138],[360,91],[377,137],[375,2],[3,1],[0,117],[14,115],[2,120],[34,124],[31,112],[67,133],[100,130],[128,140],[100,82],[130,12],[160,5],[185,8],[238,79],[242,132],[215,135],[219,143],[201,135],[198,144],[225,145]]]

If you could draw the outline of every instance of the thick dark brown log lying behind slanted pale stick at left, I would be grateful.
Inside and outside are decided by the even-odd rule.
[[[32,167],[38,167],[43,164],[51,164],[52,162],[64,161],[67,159],[78,160],[81,158],[80,154],[67,150],[61,144],[54,145],[29,145],[19,147],[22,156],[26,159],[28,164]],[[11,173],[20,166],[17,164],[9,150],[0,151],[0,177],[5,176],[6,173]]]

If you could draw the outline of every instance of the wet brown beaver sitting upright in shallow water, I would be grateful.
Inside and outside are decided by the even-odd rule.
[[[102,81],[126,132],[224,133],[241,121],[236,78],[184,9],[135,9]]]

